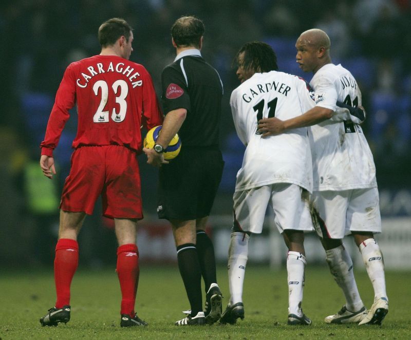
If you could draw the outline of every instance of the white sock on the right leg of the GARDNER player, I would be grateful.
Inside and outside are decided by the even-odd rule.
[[[303,316],[304,268],[307,261],[298,252],[287,253],[288,313]]]

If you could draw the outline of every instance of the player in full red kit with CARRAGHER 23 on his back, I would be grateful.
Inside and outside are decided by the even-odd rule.
[[[70,285],[79,258],[77,236],[100,195],[103,215],[114,219],[119,243],[120,325],[146,325],[135,312],[139,278],[137,220],[143,218],[137,155],[142,149],[141,126],[150,129],[161,125],[163,115],[150,74],[142,65],[128,60],[133,51],[129,24],[111,18],[100,26],[98,37],[102,46],[99,55],[67,67],[41,143],[40,166],[51,179],[55,174],[53,149],[69,110],[77,105],[77,136],[63,187],[55,247],[57,301],[40,319],[43,326],[57,326],[70,319]]]

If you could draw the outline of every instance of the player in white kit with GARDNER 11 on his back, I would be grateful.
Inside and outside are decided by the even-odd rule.
[[[230,302],[221,323],[244,318],[242,288],[251,233],[261,233],[267,206],[288,247],[289,325],[310,325],[301,308],[304,286],[304,232],[312,231],[309,192],[312,191],[312,160],[307,128],[261,138],[258,120],[302,115],[314,103],[307,84],[295,75],[278,72],[272,48],[263,42],[247,43],[236,56],[241,81],[231,94],[230,105],[239,139],[246,145],[237,173],[234,223],[228,273]]]

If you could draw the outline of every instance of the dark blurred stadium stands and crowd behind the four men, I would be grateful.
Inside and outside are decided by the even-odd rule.
[[[314,27],[328,33],[332,61],[348,68],[362,90],[363,129],[380,190],[411,188],[409,0],[6,0],[0,2],[1,266],[52,263],[61,187],[76,134],[75,109],[54,154],[58,176],[53,181],[41,174],[39,145],[68,64],[98,54],[100,24],[123,17],[134,28],[130,59],[152,74],[160,96],[161,71],[175,57],[171,25],[192,14],[206,26],[202,55],[225,87],[220,144],[226,168],[213,214],[231,214],[244,151],[229,107],[231,91],[239,84],[232,66],[235,53],[245,42],[265,41],[276,51],[281,71],[309,81],[312,74],[297,67],[294,44],[301,32]],[[144,155],[140,164],[144,210],[152,216],[157,172],[145,164]],[[94,245],[81,254],[89,265],[115,261],[113,225],[100,215],[97,203],[81,233],[81,242]]]

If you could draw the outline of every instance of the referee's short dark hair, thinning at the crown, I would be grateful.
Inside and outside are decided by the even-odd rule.
[[[199,47],[204,30],[204,24],[199,18],[194,15],[181,16],[171,27],[171,36],[177,47]]]

